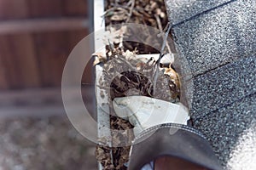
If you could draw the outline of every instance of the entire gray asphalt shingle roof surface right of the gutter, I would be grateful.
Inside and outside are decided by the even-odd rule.
[[[256,169],[256,1],[166,0],[191,108],[226,169]]]

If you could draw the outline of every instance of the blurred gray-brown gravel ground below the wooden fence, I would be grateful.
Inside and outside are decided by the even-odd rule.
[[[0,119],[0,170],[96,169],[95,145],[66,117]]]

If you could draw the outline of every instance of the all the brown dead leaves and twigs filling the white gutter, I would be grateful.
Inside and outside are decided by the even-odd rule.
[[[130,122],[115,116],[112,100],[116,97],[143,95],[155,99],[176,102],[179,97],[179,81],[177,73],[170,67],[158,68],[155,74],[156,62],[154,59],[143,61],[137,59],[137,54],[158,54],[158,50],[145,44],[154,42],[147,30],[143,30],[141,42],[124,42],[125,36],[137,36],[137,32],[127,30],[125,26],[116,27],[116,24],[135,23],[152,26],[160,31],[167,25],[166,6],[164,0],[107,0],[105,1],[104,19],[106,26],[106,54],[97,53],[94,65],[102,64],[103,72],[100,78],[102,98],[106,97],[103,91],[109,92],[108,104],[110,107],[110,128],[114,130],[129,130],[133,126]],[[147,42],[148,41],[148,42]],[[160,46],[161,44],[159,44]],[[170,51],[170,50],[169,50]],[[132,132],[132,131],[129,131]],[[133,133],[113,133],[113,145],[123,147],[108,147],[98,145],[96,158],[104,169],[127,169],[125,163],[129,161],[129,152]],[[102,140],[102,139],[99,139]],[[123,144],[125,142],[125,144]],[[100,142],[101,143],[101,142]],[[104,142],[102,142],[103,144]]]

